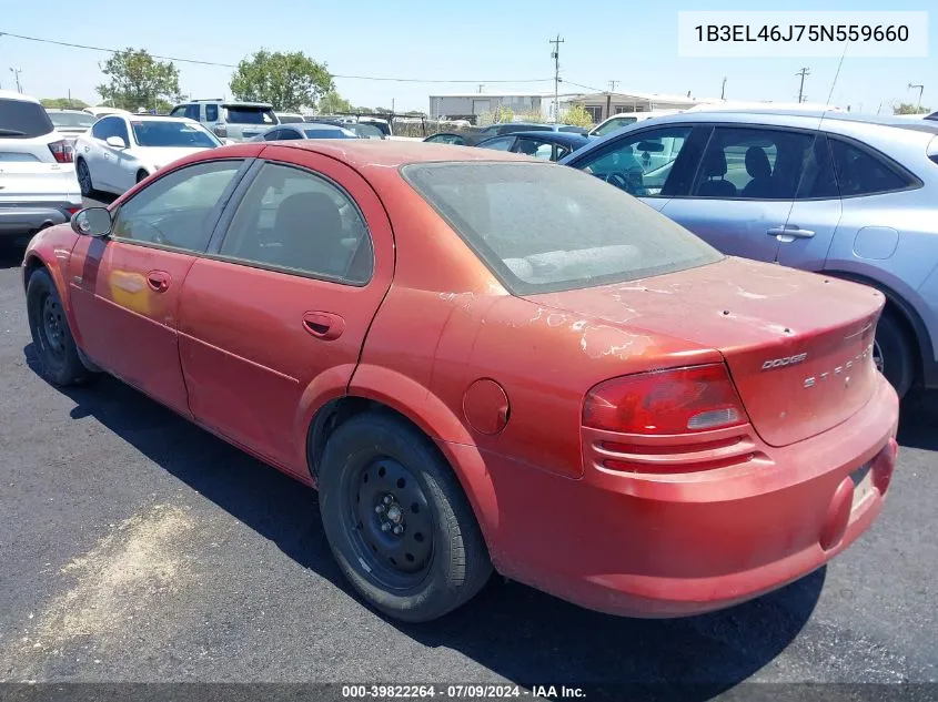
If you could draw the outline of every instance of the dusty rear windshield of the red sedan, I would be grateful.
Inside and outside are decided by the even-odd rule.
[[[633,281],[722,258],[648,205],[576,169],[414,163],[402,174],[515,295]]]

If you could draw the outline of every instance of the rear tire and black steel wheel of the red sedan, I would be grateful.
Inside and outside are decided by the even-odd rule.
[[[319,489],[332,553],[380,612],[430,621],[488,580],[485,541],[456,476],[406,420],[369,411],[340,425],[323,452]]]

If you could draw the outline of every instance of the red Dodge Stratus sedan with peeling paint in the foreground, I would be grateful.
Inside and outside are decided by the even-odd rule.
[[[617,614],[727,607],[847,548],[896,462],[880,293],[511,154],[216,149],[46,230],[23,275],[50,381],[110,373],[317,487],[403,620],[493,567]]]

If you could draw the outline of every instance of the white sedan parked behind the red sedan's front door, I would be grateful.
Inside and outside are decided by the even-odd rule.
[[[74,167],[85,197],[95,191],[120,195],[176,159],[221,145],[186,118],[109,114],[75,141]]]

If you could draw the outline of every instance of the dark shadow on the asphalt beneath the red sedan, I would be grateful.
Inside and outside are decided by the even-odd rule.
[[[24,350],[36,369],[33,346]],[[94,417],[290,558],[349,590],[325,542],[313,490],[110,377],[63,391],[75,403],[73,418]],[[493,578],[475,600],[442,620],[395,625],[524,686],[587,685],[594,701],[707,700],[788,645],[810,617],[825,577],[821,569],[753,602],[675,620],[598,614]]]

